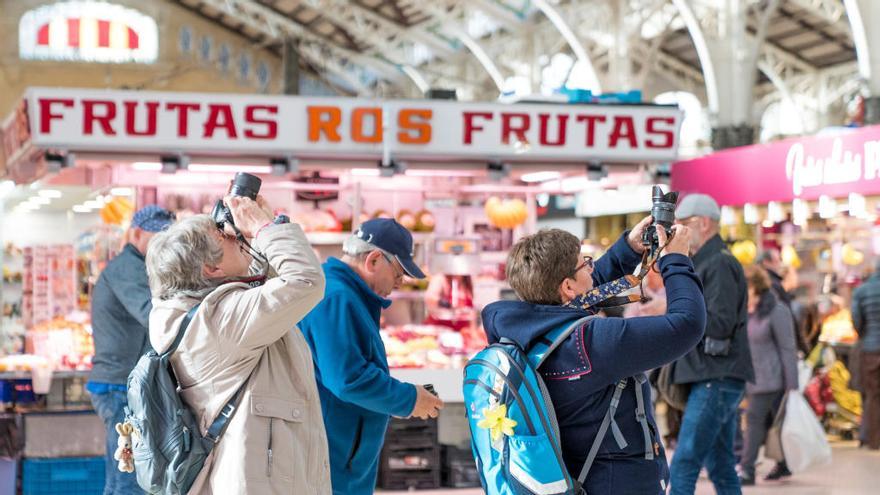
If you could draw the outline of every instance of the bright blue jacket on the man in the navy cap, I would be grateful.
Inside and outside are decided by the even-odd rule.
[[[372,494],[388,418],[412,413],[416,388],[388,372],[379,316],[391,301],[336,258],[324,276],[324,299],[299,328],[315,362],[333,493]]]

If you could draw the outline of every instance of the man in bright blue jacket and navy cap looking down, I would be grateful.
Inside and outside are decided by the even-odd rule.
[[[324,299],[299,324],[315,362],[333,493],[373,493],[389,416],[435,418],[443,402],[391,377],[379,316],[404,275],[425,278],[412,235],[391,219],[364,222],[324,264]]]

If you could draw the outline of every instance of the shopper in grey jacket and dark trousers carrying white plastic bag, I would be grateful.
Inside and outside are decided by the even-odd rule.
[[[740,464],[740,483],[755,484],[755,460],[767,439],[785,392],[797,390],[797,349],[788,308],[776,298],[770,277],[759,266],[746,271],[749,287],[749,345],[755,383],[746,385],[745,452]],[[785,461],[778,462],[766,480],[791,476]]]

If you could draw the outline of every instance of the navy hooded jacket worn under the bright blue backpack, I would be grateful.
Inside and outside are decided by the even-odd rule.
[[[624,236],[596,261],[594,286],[632,273],[640,259]],[[591,320],[573,332],[540,369],[559,422],[563,460],[574,477],[580,474],[586,461],[615,384],[678,359],[703,336],[706,306],[690,259],[667,254],[658,266],[666,286],[665,315]],[[528,349],[549,330],[570,325],[587,314],[581,309],[563,306],[501,301],[486,306],[483,325],[490,344],[506,337]],[[666,493],[669,467],[647,382],[642,385],[642,391],[657,455],[653,460],[645,459],[644,436],[636,421],[636,398],[630,380],[615,415],[628,445],[621,450],[613,435],[606,435],[587,477],[587,493]]]

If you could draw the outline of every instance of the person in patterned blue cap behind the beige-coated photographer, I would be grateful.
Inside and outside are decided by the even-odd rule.
[[[116,423],[125,420],[128,405],[128,374],[150,349],[148,322],[150,286],[144,261],[147,246],[156,232],[174,222],[174,215],[155,205],[134,214],[128,243],[104,268],[92,291],[92,336],[95,356],[86,390],[95,412],[107,430],[104,494],[143,493],[134,473],[117,469],[113,458],[118,433]]]

